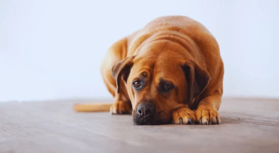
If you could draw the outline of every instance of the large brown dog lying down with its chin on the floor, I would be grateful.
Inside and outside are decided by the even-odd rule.
[[[220,123],[219,46],[189,17],[159,17],[117,41],[101,63],[101,74],[114,96],[111,113],[133,110],[134,124]]]

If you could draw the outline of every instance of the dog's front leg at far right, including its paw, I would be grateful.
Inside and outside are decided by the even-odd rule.
[[[196,121],[200,124],[219,124],[221,122],[217,112],[221,104],[221,94],[215,92],[203,98],[196,110]]]

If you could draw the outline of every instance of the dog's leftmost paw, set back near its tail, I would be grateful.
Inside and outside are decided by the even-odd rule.
[[[131,114],[131,103],[130,101],[125,102],[122,100],[116,101],[113,105],[110,107],[110,113],[111,114]]]

